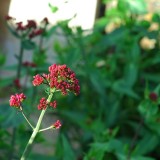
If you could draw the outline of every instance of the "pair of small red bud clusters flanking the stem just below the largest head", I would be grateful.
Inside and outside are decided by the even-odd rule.
[[[43,110],[43,109],[45,110],[47,108],[47,105],[48,105],[47,100],[44,97],[41,98],[39,101],[38,110]],[[49,105],[53,108],[56,108],[57,102],[56,101],[50,102]]]

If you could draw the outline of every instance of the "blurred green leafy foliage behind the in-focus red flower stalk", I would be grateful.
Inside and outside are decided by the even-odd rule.
[[[101,5],[109,6],[110,2],[104,0]],[[57,11],[51,4],[50,8]],[[70,28],[69,21],[49,28],[43,38],[54,37],[53,62],[75,71],[81,93],[76,97],[55,95],[58,109],[47,116],[59,117],[63,126],[56,134],[39,135],[36,145],[43,146],[32,150],[29,159],[160,159],[159,13],[148,13],[144,0],[117,0],[97,17],[93,30]],[[63,42],[57,35],[63,36]],[[22,81],[26,75],[29,81],[23,89],[28,97],[25,109],[33,118],[43,93],[30,85],[32,76],[47,72],[51,63],[46,60],[48,48],[39,50],[33,41],[26,41],[23,48],[33,51],[36,64],[35,68],[22,68]],[[0,65],[4,63],[5,57],[0,56]],[[16,70],[17,65],[2,68]],[[0,95],[6,99],[0,108],[0,159],[4,160],[9,153],[18,159],[31,134],[21,114],[9,107],[9,96],[15,91],[13,81],[14,76],[0,78]]]

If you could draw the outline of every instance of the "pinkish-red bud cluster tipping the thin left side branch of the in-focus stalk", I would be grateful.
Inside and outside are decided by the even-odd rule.
[[[9,104],[11,107],[20,108],[21,102],[26,99],[26,96],[23,93],[11,95]]]

